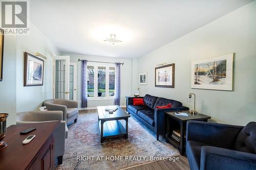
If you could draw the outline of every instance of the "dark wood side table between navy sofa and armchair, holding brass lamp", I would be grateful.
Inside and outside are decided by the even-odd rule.
[[[187,110],[179,111],[188,113]],[[164,112],[166,116],[166,142],[173,144],[180,151],[181,155],[185,153],[185,134],[186,134],[186,124],[187,120],[198,120],[207,122],[210,116],[204,114],[189,114],[188,116],[176,115],[175,112]],[[173,135],[173,132],[180,131],[180,137]],[[178,141],[179,140],[179,141]]]

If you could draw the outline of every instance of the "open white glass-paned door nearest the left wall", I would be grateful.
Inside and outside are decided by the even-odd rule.
[[[69,100],[69,56],[54,57],[54,98]]]

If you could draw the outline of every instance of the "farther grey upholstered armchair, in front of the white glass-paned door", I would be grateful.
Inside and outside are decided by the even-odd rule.
[[[78,117],[78,101],[71,101],[66,99],[50,99],[44,102],[44,106],[50,111],[60,110],[63,112],[63,120],[67,125],[76,123]]]

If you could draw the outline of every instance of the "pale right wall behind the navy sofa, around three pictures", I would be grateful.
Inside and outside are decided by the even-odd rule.
[[[190,88],[191,61],[229,53],[235,53],[233,91]],[[155,65],[164,62],[175,63],[175,88],[154,85]],[[140,85],[141,93],[178,100],[192,108],[194,103],[187,103],[187,97],[194,92],[196,110],[212,121],[246,125],[256,122],[255,63],[256,2],[252,2],[139,58],[138,73],[148,73],[148,85]]]

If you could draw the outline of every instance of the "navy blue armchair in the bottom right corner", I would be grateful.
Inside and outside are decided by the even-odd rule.
[[[245,127],[189,120],[186,155],[190,169],[256,169],[256,122]]]

